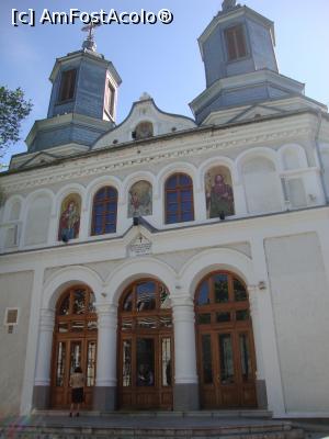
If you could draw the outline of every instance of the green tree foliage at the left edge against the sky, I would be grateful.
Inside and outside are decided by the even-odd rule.
[[[20,139],[21,122],[32,110],[21,88],[9,90],[0,87],[0,157],[5,149]]]

